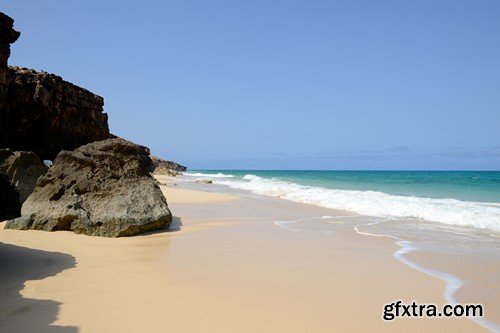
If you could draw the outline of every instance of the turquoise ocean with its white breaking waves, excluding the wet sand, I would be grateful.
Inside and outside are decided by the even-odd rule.
[[[500,172],[196,170],[186,175],[366,216],[500,233]]]

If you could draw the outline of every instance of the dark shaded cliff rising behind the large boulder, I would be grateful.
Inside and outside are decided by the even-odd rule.
[[[52,160],[61,150],[110,138],[104,100],[59,76],[8,67],[20,33],[0,13],[0,147]]]

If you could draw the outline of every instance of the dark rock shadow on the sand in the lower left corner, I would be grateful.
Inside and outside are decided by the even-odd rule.
[[[71,255],[0,243],[0,332],[78,332],[76,326],[56,326],[61,303],[21,296],[24,283],[75,267]]]

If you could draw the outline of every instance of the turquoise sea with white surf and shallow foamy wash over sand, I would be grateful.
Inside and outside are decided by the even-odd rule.
[[[256,171],[194,170],[178,178],[196,188],[263,195],[334,209],[332,215],[273,221],[290,232],[332,237],[338,223],[360,235],[389,237],[394,257],[445,283],[448,303],[488,302],[500,271],[500,172],[498,171]],[[189,186],[189,185],[188,185]],[[214,188],[216,187],[216,188]],[[432,254],[415,259],[411,253]],[[449,256],[466,265],[464,271]],[[464,266],[465,267],[465,266]],[[457,298],[460,290],[461,298]],[[491,304],[490,304],[491,306]],[[496,306],[496,305],[495,305]],[[474,318],[500,332],[500,323]]]

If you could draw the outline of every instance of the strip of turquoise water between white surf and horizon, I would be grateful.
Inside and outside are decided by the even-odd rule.
[[[243,177],[251,174],[328,189],[378,191],[422,198],[500,203],[499,171],[279,171],[195,170]]]

